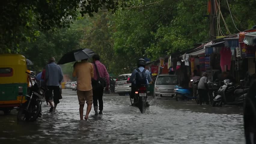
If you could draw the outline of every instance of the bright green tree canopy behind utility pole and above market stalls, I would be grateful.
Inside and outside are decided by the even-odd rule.
[[[116,12],[113,38],[117,53],[158,58],[210,40],[208,1],[143,1],[144,4],[153,2],[155,3],[151,5]],[[256,23],[252,17],[252,13],[255,14],[256,11],[248,5],[255,4],[256,1],[253,0],[248,3],[232,0],[229,5],[226,0],[216,2],[216,25],[219,26],[217,34],[221,36],[238,33],[234,23],[240,31],[250,29]],[[233,13],[234,22],[230,12]]]

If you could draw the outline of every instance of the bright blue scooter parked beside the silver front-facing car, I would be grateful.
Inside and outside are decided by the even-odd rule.
[[[178,85],[175,86],[174,92],[175,92],[176,101],[184,101],[184,100],[192,100],[192,99],[197,100],[197,97],[193,97],[190,95],[189,89],[182,88]]]

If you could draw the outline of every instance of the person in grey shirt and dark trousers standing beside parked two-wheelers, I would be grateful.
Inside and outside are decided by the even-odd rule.
[[[208,74],[204,72],[197,86],[198,92],[199,92],[200,105],[202,105],[203,100],[206,102],[206,104],[209,104],[209,98],[207,93],[208,91],[207,76]]]

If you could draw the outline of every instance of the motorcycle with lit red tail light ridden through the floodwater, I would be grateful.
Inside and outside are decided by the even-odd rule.
[[[130,96],[130,100],[131,100],[131,104],[132,104],[131,106],[138,107],[139,110],[141,111],[141,113],[145,113],[146,107],[149,107],[149,104],[147,102],[148,93],[149,92],[147,91],[146,85],[140,85],[138,88],[136,88],[133,102],[132,102],[132,98]]]

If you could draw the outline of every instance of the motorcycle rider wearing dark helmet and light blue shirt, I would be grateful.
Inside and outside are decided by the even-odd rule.
[[[151,77],[150,77],[150,72],[149,70],[145,69],[145,65],[146,65],[146,61],[144,59],[139,59],[137,61],[137,66],[138,68],[136,68],[135,70],[133,70],[132,76],[129,79],[129,82],[132,83],[132,88],[131,88],[131,98],[134,98],[134,103],[136,103],[138,101],[138,98],[135,98],[135,91],[136,91],[136,87],[139,86],[139,84],[143,84],[145,83],[146,85],[148,85],[149,82],[151,82]],[[138,77],[136,77],[138,70],[140,72],[142,72],[142,74],[146,75],[146,79],[145,82],[142,82],[144,80],[141,80],[140,82],[137,82],[136,79],[138,79]]]

